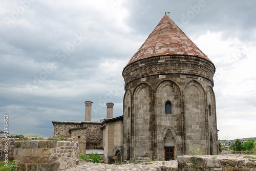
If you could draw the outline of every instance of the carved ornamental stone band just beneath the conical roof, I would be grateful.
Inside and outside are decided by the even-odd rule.
[[[161,59],[161,60],[160,60]],[[161,74],[184,74],[203,77],[213,84],[215,68],[206,60],[193,60],[193,58],[154,57],[133,63],[123,71],[125,85],[145,76]]]

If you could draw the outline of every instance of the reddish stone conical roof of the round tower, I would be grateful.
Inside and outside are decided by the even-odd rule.
[[[210,61],[166,13],[126,66],[140,59],[163,55],[198,56]]]

